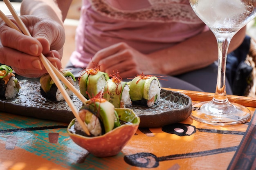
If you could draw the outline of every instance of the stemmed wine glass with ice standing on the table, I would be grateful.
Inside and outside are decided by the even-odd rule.
[[[196,15],[211,29],[218,43],[218,77],[211,101],[193,105],[191,117],[213,125],[232,125],[247,121],[251,112],[227,98],[225,73],[231,38],[256,16],[256,0],[189,0]]]

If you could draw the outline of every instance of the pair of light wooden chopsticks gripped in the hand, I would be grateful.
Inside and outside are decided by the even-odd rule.
[[[16,29],[17,31],[20,31],[21,33],[28,35],[31,37],[31,34],[29,33],[27,27],[25,26],[25,24],[22,22],[22,20],[20,19],[20,17],[18,16],[18,14],[16,13],[15,9],[13,8],[13,6],[11,5],[11,2],[9,0],[3,0],[4,3],[6,4],[6,6],[8,7],[9,11],[11,12],[11,14],[13,15],[13,18],[16,20],[18,26],[20,27],[20,29],[18,29],[18,26],[16,26],[16,24],[14,24],[1,10],[0,10],[0,18],[2,18],[2,20],[4,20],[4,22],[11,28]],[[83,130],[85,131],[85,133],[87,135],[90,135],[90,132],[88,130],[88,128],[86,127],[85,123],[82,121],[82,119],[79,117],[79,113],[78,110],[76,109],[76,107],[74,106],[72,100],[70,99],[69,95],[67,94],[67,92],[65,91],[64,87],[62,86],[60,80],[67,86],[67,88],[69,88],[83,103],[87,101],[87,99],[85,99],[85,97],[76,90],[76,88],[63,76],[62,73],[60,73],[60,71],[55,68],[51,62],[49,62],[49,60],[47,60],[47,58],[41,53],[39,55],[39,58],[41,60],[41,62],[43,63],[43,65],[45,66],[47,72],[49,73],[49,75],[51,76],[52,80],[54,81],[54,83],[56,84],[56,86],[58,87],[58,89],[60,90],[61,94],[63,95],[65,101],[67,102],[67,104],[70,106],[72,113],[74,114],[74,116],[76,117],[77,121],[79,122],[79,124],[82,126]]]

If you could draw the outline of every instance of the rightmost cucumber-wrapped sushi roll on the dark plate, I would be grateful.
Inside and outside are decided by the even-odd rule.
[[[160,83],[157,77],[139,75],[129,85],[132,104],[152,107],[160,98]]]

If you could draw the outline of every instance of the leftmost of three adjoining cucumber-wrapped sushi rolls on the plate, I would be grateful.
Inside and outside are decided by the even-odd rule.
[[[103,92],[108,79],[109,76],[107,73],[101,72],[97,68],[90,68],[79,77],[80,93],[86,99],[93,98],[99,92]]]

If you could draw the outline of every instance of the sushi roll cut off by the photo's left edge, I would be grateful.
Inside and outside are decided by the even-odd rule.
[[[9,66],[0,66],[0,98],[15,98],[20,90],[18,79]]]

